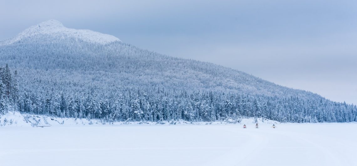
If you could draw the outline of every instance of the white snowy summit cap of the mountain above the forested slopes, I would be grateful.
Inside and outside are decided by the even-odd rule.
[[[99,32],[95,32],[91,30],[70,29],[63,26],[63,24],[57,20],[48,20],[45,22],[41,22],[40,24],[37,24],[35,26],[31,26],[28,29],[22,31],[16,37],[10,40],[6,40],[0,44],[2,45],[11,44],[30,36],[44,35],[44,34],[52,35],[55,36],[56,38],[72,37],[75,39],[97,43],[97,44],[108,44],[110,42],[120,41],[118,38],[112,35],[101,34]]]

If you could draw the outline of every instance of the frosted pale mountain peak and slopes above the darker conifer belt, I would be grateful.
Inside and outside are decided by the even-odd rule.
[[[41,76],[66,72],[61,75],[65,79],[58,80],[61,82],[92,84],[93,80],[106,79],[106,82],[97,83],[267,96],[315,96],[227,67],[142,50],[122,43],[114,36],[90,30],[69,29],[56,20],[31,26],[13,39],[4,41],[0,49],[2,64],[23,68],[25,71],[21,73],[26,72],[26,75],[34,75],[27,73],[33,69],[47,73]],[[68,73],[69,70],[72,71]],[[74,76],[74,72],[80,73]]]

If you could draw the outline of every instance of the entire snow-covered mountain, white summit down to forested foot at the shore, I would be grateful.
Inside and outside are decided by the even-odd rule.
[[[125,44],[49,20],[0,45],[17,70],[16,107],[33,114],[115,120],[356,121],[356,106],[329,101],[228,67]]]

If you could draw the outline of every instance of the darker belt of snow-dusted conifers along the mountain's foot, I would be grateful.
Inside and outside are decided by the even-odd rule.
[[[262,117],[280,122],[352,122],[354,105],[298,97],[267,97],[224,92],[125,88],[103,95],[35,93],[19,89],[17,71],[0,68],[0,110],[36,115],[112,121],[220,121]],[[55,85],[54,85],[55,86]]]

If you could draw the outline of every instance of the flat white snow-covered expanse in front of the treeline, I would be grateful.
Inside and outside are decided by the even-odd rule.
[[[0,127],[4,166],[355,166],[356,123]]]

